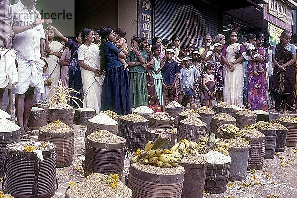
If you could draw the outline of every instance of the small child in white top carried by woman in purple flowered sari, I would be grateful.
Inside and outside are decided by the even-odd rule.
[[[246,54],[248,57],[251,58],[251,60],[256,59],[260,55],[258,53],[258,50],[255,49],[255,46],[254,46],[255,43],[256,43],[256,35],[253,33],[248,34],[247,35]],[[256,69],[257,64],[258,64],[258,70]],[[255,76],[259,76],[258,72],[264,72],[261,62],[252,62],[252,67],[253,67],[253,73]]]

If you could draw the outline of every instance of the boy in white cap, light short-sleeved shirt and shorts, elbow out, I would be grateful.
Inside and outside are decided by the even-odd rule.
[[[200,73],[198,70],[191,64],[192,58],[186,56],[182,59],[185,67],[182,68],[179,72],[179,81],[180,81],[180,95],[178,97],[178,102],[181,104],[184,96],[187,96],[187,103],[191,102],[192,96],[194,95],[194,90],[196,85],[200,81]],[[197,77],[197,82],[194,85],[194,78]]]

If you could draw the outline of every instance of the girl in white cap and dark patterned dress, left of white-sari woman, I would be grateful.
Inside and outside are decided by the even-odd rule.
[[[221,59],[222,57],[222,44],[221,43],[215,43],[213,44],[213,54],[212,54],[212,60],[213,60],[213,75],[214,75],[214,82],[216,86],[216,102],[224,101],[223,99],[223,89],[224,89],[224,78],[223,78],[223,61]]]

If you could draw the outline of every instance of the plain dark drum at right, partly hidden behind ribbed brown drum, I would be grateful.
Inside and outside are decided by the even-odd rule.
[[[276,145],[276,130],[258,129],[265,135],[265,157],[264,159],[273,159]]]

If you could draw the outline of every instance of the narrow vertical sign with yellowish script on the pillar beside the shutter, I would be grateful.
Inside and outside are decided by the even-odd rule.
[[[152,40],[152,0],[138,0],[138,36]]]

